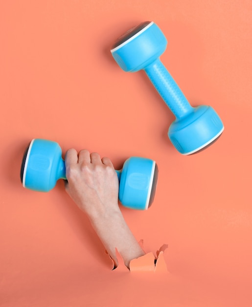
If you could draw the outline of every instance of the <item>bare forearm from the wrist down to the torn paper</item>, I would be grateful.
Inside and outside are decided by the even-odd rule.
[[[90,220],[105,249],[114,260],[115,266],[118,265],[115,249],[128,268],[132,259],[145,255],[119,209],[99,217],[90,217]]]

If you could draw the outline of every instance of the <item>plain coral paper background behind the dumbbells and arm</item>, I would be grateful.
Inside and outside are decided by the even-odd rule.
[[[193,156],[144,73],[125,73],[115,39],[146,20],[168,40],[161,60],[192,105],[213,106],[222,137]],[[250,0],[0,2],[0,306],[252,306],[252,3]],[[153,206],[121,208],[147,253],[168,244],[169,273],[110,270],[87,217],[57,183],[22,187],[32,138],[109,156],[155,159]]]

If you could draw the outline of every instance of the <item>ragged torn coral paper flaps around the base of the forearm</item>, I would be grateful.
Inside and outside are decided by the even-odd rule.
[[[139,241],[139,245],[144,251],[143,248],[143,240]],[[140,256],[136,259],[132,259],[130,261],[130,272],[154,272],[154,273],[165,273],[168,272],[167,265],[164,259],[164,252],[168,248],[167,244],[163,244],[159,250],[156,252],[156,256],[152,252],[146,253],[144,256]],[[110,257],[112,260],[112,270],[120,270],[120,271],[127,271],[129,272],[129,269],[124,264],[123,258],[120,255],[120,253],[115,249],[116,259],[118,262],[118,265],[115,266],[114,260],[111,258],[111,256],[108,254],[107,251],[105,251],[106,254]]]

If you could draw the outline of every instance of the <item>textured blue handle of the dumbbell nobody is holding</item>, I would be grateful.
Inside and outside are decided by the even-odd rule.
[[[144,71],[177,119],[192,112],[193,107],[159,58],[145,67]]]

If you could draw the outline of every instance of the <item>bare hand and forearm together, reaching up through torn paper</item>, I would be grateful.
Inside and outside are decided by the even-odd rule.
[[[66,191],[85,212],[107,252],[118,265],[115,249],[129,268],[145,253],[127,226],[118,206],[119,182],[111,160],[88,150],[69,149],[65,156]]]

